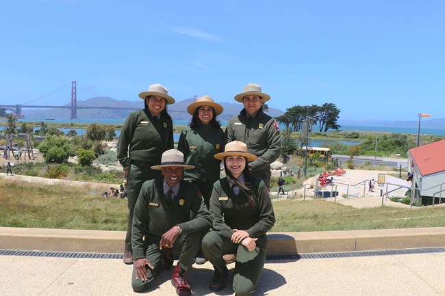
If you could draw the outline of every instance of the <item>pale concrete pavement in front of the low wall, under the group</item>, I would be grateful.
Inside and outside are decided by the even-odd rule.
[[[283,295],[445,295],[445,253],[268,260],[255,296]],[[227,286],[213,293],[212,265],[194,265],[187,275],[194,296],[233,295]],[[141,295],[131,289],[131,265],[117,259],[0,256],[0,295]],[[165,271],[142,295],[176,295]]]

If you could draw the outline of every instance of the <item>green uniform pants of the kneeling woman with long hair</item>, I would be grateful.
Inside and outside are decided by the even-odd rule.
[[[233,290],[238,296],[250,296],[255,292],[259,277],[266,261],[267,237],[263,235],[256,241],[257,247],[249,252],[246,247],[223,239],[216,231],[210,231],[203,238],[203,253],[221,273],[225,270],[224,254],[236,254]]]

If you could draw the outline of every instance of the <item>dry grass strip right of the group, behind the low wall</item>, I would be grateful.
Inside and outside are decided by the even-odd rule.
[[[442,227],[445,207],[352,208],[325,200],[274,202],[272,232]]]

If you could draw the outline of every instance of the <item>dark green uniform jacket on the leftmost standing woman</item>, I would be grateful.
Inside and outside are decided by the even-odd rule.
[[[118,139],[118,159],[124,170],[131,161],[158,164],[162,153],[173,149],[173,122],[160,116],[152,116],[149,109],[129,114]]]

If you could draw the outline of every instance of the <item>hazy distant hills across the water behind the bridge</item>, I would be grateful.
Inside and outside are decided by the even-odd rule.
[[[193,103],[193,98],[176,101],[173,105],[168,105],[167,110],[173,120],[190,120],[192,116],[187,113],[187,106]],[[224,107],[223,113],[218,116],[220,120],[229,120],[233,115],[240,113],[242,104],[240,103],[220,103]],[[68,106],[69,104],[66,104]],[[143,100],[115,100],[114,98],[97,96],[88,100],[77,100],[77,106],[84,107],[132,107],[142,109]],[[78,118],[127,118],[131,110],[107,110],[107,109],[77,109]],[[181,112],[175,112],[181,111]],[[279,109],[270,108],[268,115],[279,116],[284,112]],[[25,118],[70,118],[71,109],[24,109]]]

